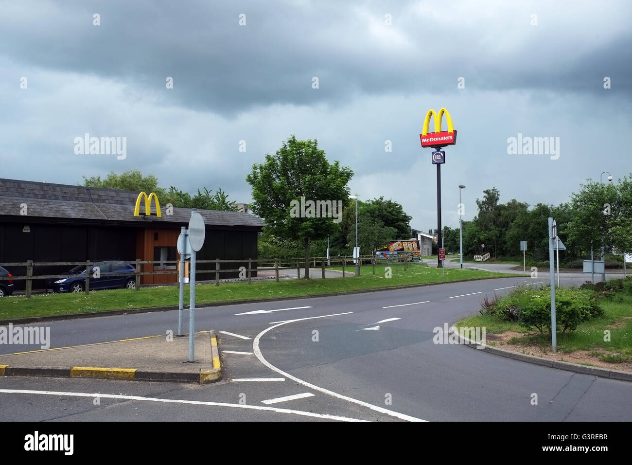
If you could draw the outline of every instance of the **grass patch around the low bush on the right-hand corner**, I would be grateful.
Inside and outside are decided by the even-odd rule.
[[[613,301],[602,301],[604,316],[592,319],[578,326],[575,331],[557,332],[557,349],[560,352],[590,350],[593,356],[606,362],[632,361],[632,295],[620,293]],[[525,336],[513,338],[511,342],[531,342],[550,348],[548,337],[529,335],[518,323],[500,321],[485,314],[465,318],[454,326],[485,326],[487,332],[501,334],[506,331],[524,333]],[[611,340],[604,342],[604,330],[611,332]]]

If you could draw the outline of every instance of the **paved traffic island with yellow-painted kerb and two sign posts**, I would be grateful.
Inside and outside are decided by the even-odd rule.
[[[195,333],[195,361],[188,335],[159,335],[97,344],[32,350],[0,356],[0,376],[53,376],[108,380],[214,383],[222,379],[217,337]]]

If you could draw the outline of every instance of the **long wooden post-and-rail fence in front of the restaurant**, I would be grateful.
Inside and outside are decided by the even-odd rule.
[[[351,268],[351,273],[354,273],[355,270],[355,262],[354,262],[354,258],[353,257],[333,257],[333,258],[327,258],[327,257],[309,257],[309,261],[310,264],[313,263],[313,266],[310,266],[310,269],[314,269],[314,268],[320,268],[321,273],[322,273],[322,278],[325,277],[325,269],[326,268],[331,268],[333,267],[337,267],[337,268],[342,268],[342,272],[343,272],[343,278],[346,275],[346,270],[348,268]],[[236,269],[222,269],[220,268],[220,265],[222,263],[246,263],[246,261],[248,262],[248,268],[246,268],[245,266],[242,266],[240,268],[236,268]],[[375,275],[375,265],[377,263],[384,263],[384,264],[402,264],[404,267],[404,270],[406,270],[408,268],[408,264],[410,263],[410,258],[409,257],[396,257],[396,258],[390,258],[390,259],[380,259],[377,258],[375,256],[360,256],[359,260],[360,266],[366,265],[366,264],[371,264],[372,268],[373,268],[373,274]],[[33,280],[39,280],[39,279],[52,279],[52,278],[76,278],[78,277],[78,275],[70,275],[70,274],[56,274],[56,275],[35,275],[33,276],[33,267],[35,266],[85,266],[85,293],[89,294],[90,293],[90,268],[92,266],[94,266],[95,264],[99,264],[99,263],[103,263],[103,262],[95,262],[95,261],[79,261],[79,262],[74,262],[74,261],[64,261],[64,262],[33,262],[32,260],[28,260],[26,262],[11,262],[11,263],[0,263],[1,266],[3,266],[4,268],[8,268],[9,272],[11,271],[11,267],[14,266],[25,266],[26,267],[26,275],[25,276],[15,276],[13,275],[13,273],[11,273],[13,276],[0,276],[0,280],[3,281],[10,281],[10,280],[26,280],[26,286],[25,286],[25,294],[27,299],[31,296],[32,294],[32,285],[33,285]],[[179,263],[179,261],[174,261],[174,260],[170,260],[170,261],[147,261],[147,260],[140,260],[137,259],[136,261],[123,261],[123,260],[116,260],[116,263],[119,264],[123,264],[123,263],[128,263],[131,264],[135,267],[136,271],[135,273],[133,273],[133,275],[135,276],[135,286],[136,286],[136,290],[140,290],[140,276],[142,275],[175,275],[178,273],[178,270],[152,270],[152,271],[142,271],[142,265],[143,264],[160,264],[160,265],[165,265],[165,264],[177,264]],[[305,258],[286,258],[286,259],[214,259],[214,260],[196,260],[195,261],[196,264],[202,264],[202,263],[212,263],[215,264],[215,269],[210,269],[210,270],[200,270],[197,269],[196,270],[196,276],[200,275],[200,274],[205,274],[205,273],[212,273],[214,274],[214,278],[215,278],[215,285],[219,286],[219,280],[220,280],[220,276],[222,273],[245,273],[246,277],[243,279],[240,279],[240,281],[243,282],[247,282],[248,284],[250,284],[252,282],[252,271],[260,271],[260,270],[272,270],[274,269],[274,279],[276,280],[276,282],[279,282],[279,270],[296,270],[296,277],[298,279],[300,279],[301,275],[300,275],[300,270],[301,268],[304,268],[305,265]],[[130,275],[130,273],[107,273],[107,276],[128,276]],[[94,278],[93,278],[94,279]]]

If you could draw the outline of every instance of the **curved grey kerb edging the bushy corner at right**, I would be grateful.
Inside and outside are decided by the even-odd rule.
[[[464,335],[458,332],[458,330],[451,326],[449,328],[450,333],[454,333],[459,339],[459,344],[467,345],[478,349],[480,344],[466,338]],[[511,350],[499,349],[498,347],[492,347],[487,344],[483,344],[483,352],[489,354],[498,355],[501,357],[507,357],[510,359],[518,360],[521,362],[532,363],[540,366],[548,366],[549,368],[564,369],[566,371],[573,371],[574,373],[580,373],[581,375],[593,375],[600,378],[610,378],[611,380],[632,381],[632,373],[626,373],[625,371],[618,371],[615,369],[601,368],[599,366],[580,365],[576,363],[562,362],[557,360],[545,359],[544,357],[537,357],[527,354],[519,354],[518,352],[512,352]]]

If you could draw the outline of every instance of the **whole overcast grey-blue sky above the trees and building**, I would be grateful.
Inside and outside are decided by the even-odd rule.
[[[458,224],[459,184],[470,219],[490,187],[502,202],[557,204],[604,170],[632,172],[629,1],[3,0],[0,9],[0,178],[76,184],[136,169],[250,202],[252,164],[295,134],[349,166],[360,199],[392,198],[427,230],[437,224],[436,168],[419,133],[428,109],[442,107],[458,130],[441,170],[446,225]],[[75,154],[85,133],[126,137],[126,158]],[[507,153],[519,133],[559,140],[559,158]]]

